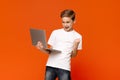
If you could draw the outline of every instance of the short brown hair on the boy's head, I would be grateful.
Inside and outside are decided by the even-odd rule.
[[[74,21],[75,20],[75,12],[73,10],[71,10],[71,9],[66,9],[66,10],[61,12],[60,17],[61,18],[70,17]]]

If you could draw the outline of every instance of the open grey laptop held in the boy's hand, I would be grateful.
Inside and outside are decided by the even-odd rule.
[[[54,52],[54,53],[60,53],[61,52],[59,50],[47,47],[45,30],[30,28],[30,36],[31,36],[31,41],[32,41],[33,46],[36,46],[37,42],[40,41],[47,51]]]

